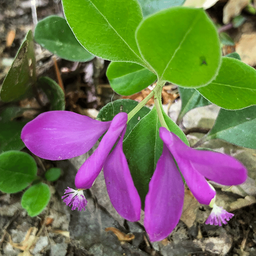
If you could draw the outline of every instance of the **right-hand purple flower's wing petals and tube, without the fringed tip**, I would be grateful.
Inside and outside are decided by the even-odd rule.
[[[144,225],[151,241],[164,239],[178,224],[184,200],[182,176],[201,204],[210,204],[216,193],[206,178],[226,186],[241,184],[247,178],[245,166],[231,156],[190,148],[163,127],[159,133],[163,153],[145,199]]]

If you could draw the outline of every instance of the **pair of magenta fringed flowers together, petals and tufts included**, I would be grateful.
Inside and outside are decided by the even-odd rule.
[[[69,111],[49,111],[26,124],[21,138],[35,155],[61,160],[84,154],[106,132],[98,148],[76,174],[78,191],[68,187],[64,202],[72,206],[72,210],[85,210],[87,201],[82,189],[90,188],[103,168],[114,208],[125,219],[138,221],[141,200],[122,150],[126,122],[126,113],[117,114],[112,121],[101,122]],[[184,201],[182,176],[201,204],[210,204],[216,194],[206,178],[226,186],[241,184],[247,178],[246,168],[231,156],[190,148],[163,127],[159,134],[163,152],[145,199],[144,224],[151,241],[167,237],[180,219]],[[206,224],[226,224],[232,216],[213,204]]]

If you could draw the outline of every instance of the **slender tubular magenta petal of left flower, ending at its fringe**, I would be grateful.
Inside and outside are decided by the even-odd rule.
[[[102,170],[102,167],[108,157],[109,152],[115,145],[120,134],[126,127],[127,113],[117,114],[109,126],[108,131],[103,136],[98,148],[83,163],[76,174],[75,185],[77,188],[90,188]]]

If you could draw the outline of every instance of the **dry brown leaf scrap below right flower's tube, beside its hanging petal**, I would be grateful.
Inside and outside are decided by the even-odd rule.
[[[192,195],[188,188],[185,188],[184,204],[180,220],[182,220],[189,228],[193,226],[193,222],[196,219],[198,206],[199,203],[197,199]]]

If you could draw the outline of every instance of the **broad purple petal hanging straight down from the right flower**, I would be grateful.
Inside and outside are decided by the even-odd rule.
[[[184,184],[168,148],[163,144],[145,199],[144,226],[150,241],[160,241],[172,232],[182,214]]]

